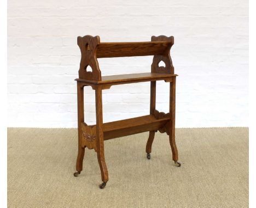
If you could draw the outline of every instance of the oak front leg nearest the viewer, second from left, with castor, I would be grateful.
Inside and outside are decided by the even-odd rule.
[[[103,183],[100,188],[104,188],[108,181],[108,169],[104,158],[104,140],[103,140],[103,118],[102,118],[102,89],[101,86],[95,88],[96,99],[96,145],[98,164],[101,169],[101,180]]]

